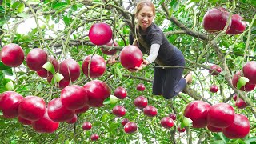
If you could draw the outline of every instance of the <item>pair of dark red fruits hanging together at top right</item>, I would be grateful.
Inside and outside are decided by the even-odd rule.
[[[230,13],[222,7],[213,8],[208,10],[203,17],[203,27],[209,32],[219,32],[224,30]],[[246,30],[246,22],[242,21],[243,18],[239,14],[231,16],[231,22],[228,23],[226,34],[242,34]]]

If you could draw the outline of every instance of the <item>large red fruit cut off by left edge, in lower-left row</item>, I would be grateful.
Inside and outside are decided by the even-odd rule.
[[[18,117],[18,106],[22,95],[14,91],[6,91],[0,94],[0,110],[4,118]]]

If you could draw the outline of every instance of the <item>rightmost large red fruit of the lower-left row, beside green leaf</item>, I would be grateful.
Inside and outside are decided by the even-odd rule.
[[[92,107],[101,107],[103,101],[110,97],[110,87],[105,82],[100,80],[93,80],[87,82],[83,86],[87,91],[88,105]]]

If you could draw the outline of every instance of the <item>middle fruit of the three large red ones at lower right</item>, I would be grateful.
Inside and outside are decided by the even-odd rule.
[[[210,126],[225,128],[234,122],[234,109],[227,103],[218,103],[210,106],[207,118]]]

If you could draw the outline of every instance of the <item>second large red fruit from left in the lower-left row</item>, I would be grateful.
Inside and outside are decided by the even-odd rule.
[[[18,115],[30,121],[37,121],[46,113],[46,102],[37,96],[22,98],[18,106]]]

